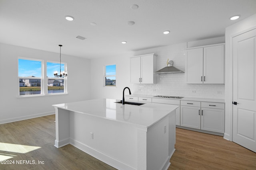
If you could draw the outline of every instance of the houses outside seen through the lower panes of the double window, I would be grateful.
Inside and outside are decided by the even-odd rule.
[[[34,77],[34,76],[32,76]],[[20,87],[35,87],[41,86],[41,79],[22,79],[20,78]],[[64,86],[64,80],[48,79],[48,86]]]

